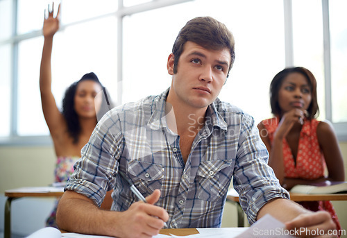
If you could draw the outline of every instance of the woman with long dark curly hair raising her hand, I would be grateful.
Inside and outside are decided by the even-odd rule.
[[[67,88],[62,101],[62,111],[58,109],[51,91],[51,53],[53,36],[59,29],[60,5],[56,17],[53,16],[53,11],[54,5],[49,9],[47,17],[45,14],[42,29],[44,46],[40,67],[40,92],[44,119],[57,156],[55,182],[66,182],[74,171],[74,163],[81,158],[81,148],[87,144],[96,126],[96,108],[101,108],[101,100],[95,101],[96,94],[101,91],[106,93],[99,78],[91,72]],[[95,105],[95,102],[100,105]],[[56,205],[46,221],[47,226],[56,227]],[[109,206],[108,203],[104,208]]]

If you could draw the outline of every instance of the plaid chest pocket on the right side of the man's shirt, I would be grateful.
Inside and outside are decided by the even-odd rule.
[[[226,175],[222,176],[221,170],[231,167],[231,164],[232,160],[208,160],[201,162],[197,171],[199,199],[214,202],[228,192],[230,179]]]

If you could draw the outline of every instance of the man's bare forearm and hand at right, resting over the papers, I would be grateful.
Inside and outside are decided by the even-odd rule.
[[[336,225],[328,212],[311,212],[293,201],[277,198],[266,203],[258,212],[257,220],[265,214],[271,214],[285,223],[287,230],[335,230]],[[302,234],[305,237],[305,234]]]

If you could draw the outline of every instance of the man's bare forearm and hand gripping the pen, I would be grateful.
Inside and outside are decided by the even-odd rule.
[[[169,215],[153,205],[160,191],[146,198],[148,203],[137,202],[125,212],[99,209],[89,198],[67,190],[60,199],[57,224],[61,230],[112,237],[152,237],[158,235]],[[158,219],[159,218],[159,219]]]

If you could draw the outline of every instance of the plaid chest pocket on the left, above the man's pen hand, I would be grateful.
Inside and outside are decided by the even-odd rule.
[[[132,160],[128,163],[127,170],[135,187],[144,197],[152,194],[155,189],[162,188],[164,168],[161,164]]]

